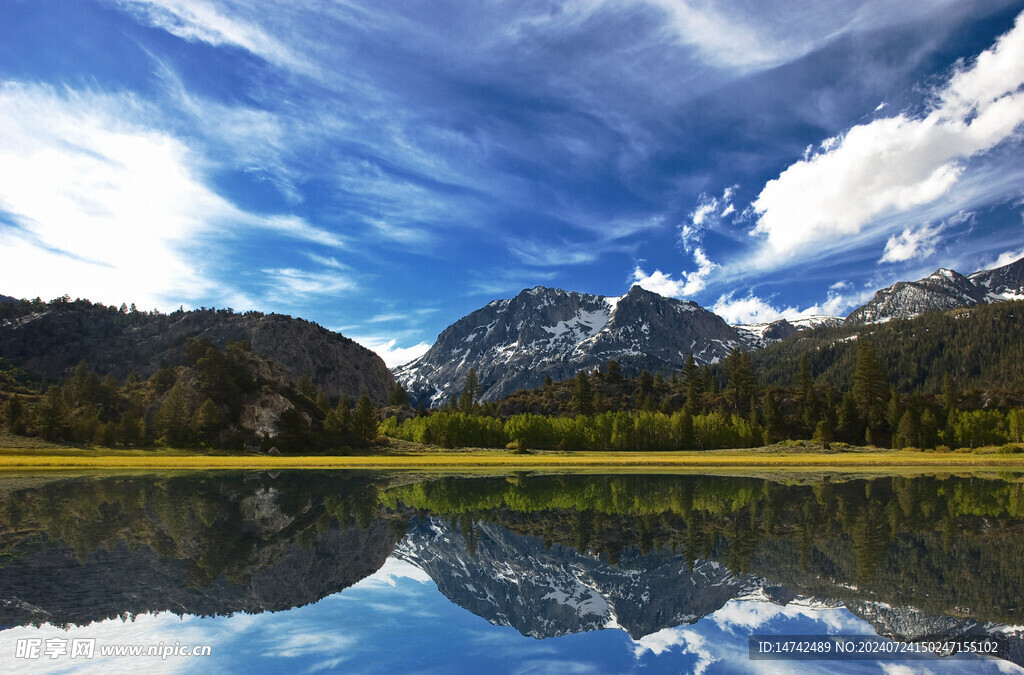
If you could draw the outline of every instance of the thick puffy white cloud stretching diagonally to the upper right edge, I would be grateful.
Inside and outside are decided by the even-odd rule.
[[[1024,14],[974,62],[957,66],[927,115],[857,125],[769,181],[753,203],[762,264],[827,250],[947,195],[968,160],[1020,138],[1022,86]]]

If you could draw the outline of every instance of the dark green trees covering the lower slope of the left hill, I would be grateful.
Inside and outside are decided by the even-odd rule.
[[[100,380],[80,363],[71,378],[33,392],[0,392],[10,433],[103,447],[261,450],[310,453],[366,447],[377,436],[368,396],[331,402],[308,376],[291,382],[248,343],[221,351],[205,338],[185,344],[185,366],[147,380]],[[402,392],[403,395],[403,392]]]

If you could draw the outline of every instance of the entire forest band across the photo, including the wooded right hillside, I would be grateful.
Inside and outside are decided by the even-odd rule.
[[[0,360],[0,428],[102,447],[346,453],[380,436],[443,448],[711,450],[815,440],[956,450],[1024,442],[1020,302],[858,328],[819,328],[722,362],[692,354],[668,374],[615,361],[560,382],[480,402],[461,394],[414,411],[395,384],[387,406],[332,399],[245,342],[185,342],[184,365],[147,380],[100,379],[82,362],[46,382]]]

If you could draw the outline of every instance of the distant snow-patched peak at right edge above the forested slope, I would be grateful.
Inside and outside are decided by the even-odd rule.
[[[965,277],[939,268],[916,282],[897,282],[850,312],[847,325],[882,324],[912,319],[929,311],[1024,299],[1024,258],[995,269]]]

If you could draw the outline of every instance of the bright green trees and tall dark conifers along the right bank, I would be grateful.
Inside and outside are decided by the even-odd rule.
[[[786,439],[892,448],[958,449],[1024,441],[1024,408],[1013,392],[998,398],[958,390],[947,375],[938,392],[890,384],[873,341],[855,341],[844,389],[821,384],[804,353],[795,384],[766,387],[752,354],[734,349],[714,368],[692,354],[669,378],[625,377],[611,361],[595,372],[477,404],[475,374],[440,411],[403,422],[386,435],[444,447],[562,450],[709,450]]]

